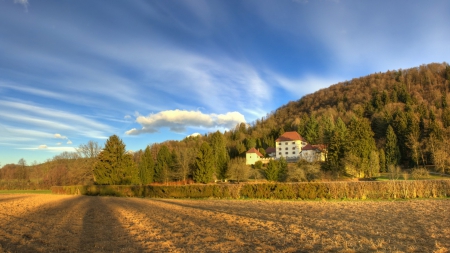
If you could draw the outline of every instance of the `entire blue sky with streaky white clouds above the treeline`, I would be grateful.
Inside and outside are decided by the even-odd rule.
[[[251,124],[450,59],[450,1],[0,0],[0,166]]]

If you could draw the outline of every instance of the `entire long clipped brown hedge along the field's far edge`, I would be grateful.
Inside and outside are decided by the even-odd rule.
[[[450,197],[450,180],[185,186],[54,186],[55,194],[147,198],[413,199]]]

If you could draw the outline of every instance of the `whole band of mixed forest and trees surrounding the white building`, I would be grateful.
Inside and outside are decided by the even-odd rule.
[[[225,133],[156,143],[137,152],[127,152],[122,140],[111,136],[104,147],[91,141],[43,164],[29,165],[21,159],[3,166],[0,187],[248,178],[305,181],[320,173],[336,179],[370,178],[416,168],[449,172],[449,88],[447,63],[374,73],[306,95]],[[325,144],[326,161],[245,165],[247,150],[256,147],[265,155],[285,131],[297,131],[311,144]]]

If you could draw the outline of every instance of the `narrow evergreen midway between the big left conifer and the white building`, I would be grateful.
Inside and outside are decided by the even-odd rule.
[[[213,179],[214,174],[214,158],[211,147],[204,142],[200,146],[197,157],[194,162],[194,170],[192,176],[197,183],[209,183]]]

